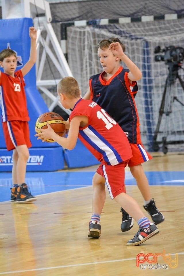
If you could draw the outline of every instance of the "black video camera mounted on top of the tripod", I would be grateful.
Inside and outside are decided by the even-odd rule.
[[[160,46],[155,47],[154,53],[164,53],[163,55],[156,55],[155,61],[165,61],[166,64],[174,63],[178,64],[184,60],[184,48],[183,47],[176,47],[176,46],[168,46],[164,49],[161,49]]]

